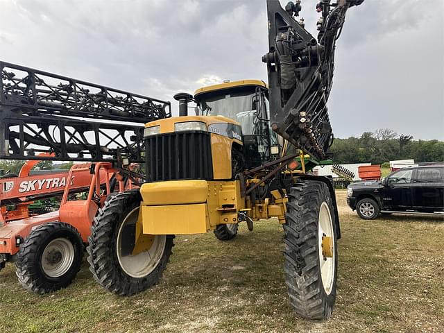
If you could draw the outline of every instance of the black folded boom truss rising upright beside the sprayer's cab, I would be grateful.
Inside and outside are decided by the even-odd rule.
[[[279,0],[267,0],[268,65],[271,127],[296,148],[318,160],[326,157],[333,141],[327,100],[332,88],[334,51],[345,12],[364,0],[321,0],[316,10],[318,39],[296,21],[300,0],[285,10]]]

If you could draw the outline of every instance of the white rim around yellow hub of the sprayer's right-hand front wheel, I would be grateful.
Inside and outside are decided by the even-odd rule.
[[[323,237],[332,237],[332,257],[324,257],[322,251],[322,239]],[[335,244],[334,244],[334,232],[333,232],[333,221],[332,215],[330,214],[330,209],[325,203],[321,205],[319,210],[319,223],[318,223],[318,253],[319,253],[319,266],[321,269],[322,284],[324,286],[325,293],[330,295],[333,289],[334,282],[334,270],[335,267]]]

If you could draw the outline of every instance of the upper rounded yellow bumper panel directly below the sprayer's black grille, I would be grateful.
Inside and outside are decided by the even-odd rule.
[[[205,180],[169,180],[148,182],[140,187],[143,205],[178,205],[205,203],[208,186]]]

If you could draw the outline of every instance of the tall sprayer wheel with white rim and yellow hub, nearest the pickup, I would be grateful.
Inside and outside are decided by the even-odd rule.
[[[337,228],[330,190],[305,181],[289,191],[284,224],[284,271],[297,314],[327,319],[336,301]]]

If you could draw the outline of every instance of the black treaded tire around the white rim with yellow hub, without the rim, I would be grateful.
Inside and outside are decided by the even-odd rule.
[[[300,316],[325,320],[330,317],[334,307],[336,273],[332,291],[327,295],[318,263],[318,210],[325,201],[333,215],[333,200],[327,185],[316,180],[297,182],[288,196],[284,224],[284,273],[289,300]]]

